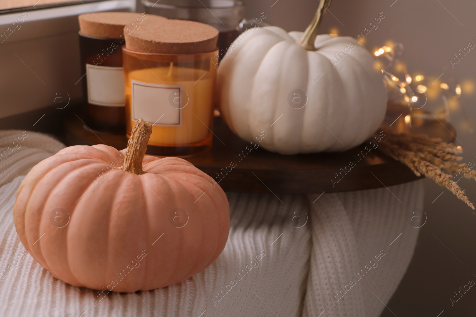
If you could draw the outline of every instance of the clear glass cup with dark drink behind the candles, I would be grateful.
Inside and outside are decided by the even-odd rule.
[[[245,19],[245,6],[236,0],[142,0],[142,4],[148,14],[197,21],[218,29],[219,60],[243,31],[270,25],[264,21],[265,13],[253,20]]]

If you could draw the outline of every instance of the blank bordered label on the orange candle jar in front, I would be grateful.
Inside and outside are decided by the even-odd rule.
[[[131,81],[132,117],[153,125],[182,125],[182,85]]]

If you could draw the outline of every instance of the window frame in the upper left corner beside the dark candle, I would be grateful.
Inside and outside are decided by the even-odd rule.
[[[0,14],[0,34],[28,14],[0,43],[0,118],[54,106],[59,92],[81,100],[78,15],[135,9],[136,0],[104,0]]]

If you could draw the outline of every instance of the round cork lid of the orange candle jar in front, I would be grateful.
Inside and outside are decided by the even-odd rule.
[[[218,30],[208,24],[166,20],[144,21],[140,28],[126,38],[126,48],[159,54],[197,54],[213,52],[217,46]]]

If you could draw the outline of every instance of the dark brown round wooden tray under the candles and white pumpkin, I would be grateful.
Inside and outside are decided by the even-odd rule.
[[[410,128],[404,119],[407,114],[405,107],[389,106],[385,123],[390,125],[393,122],[392,127],[397,131],[428,134],[446,142],[454,140],[455,129],[446,121],[414,120]],[[105,143],[117,149],[127,147],[125,135],[92,131],[74,114],[69,116],[66,130],[67,145]],[[360,155],[359,160],[358,154],[364,150],[365,144],[346,152],[298,155],[280,155],[259,147],[246,156],[239,156],[249,144],[233,134],[220,117],[215,118],[214,134],[210,151],[184,158],[219,181],[225,191],[273,194],[348,192],[418,179],[407,166],[378,149],[371,150],[363,159],[363,155]],[[354,161],[356,166],[350,172],[340,174],[350,161]],[[231,162],[237,166],[231,172],[223,172],[230,171],[227,167]],[[225,175],[221,181],[217,173]]]

